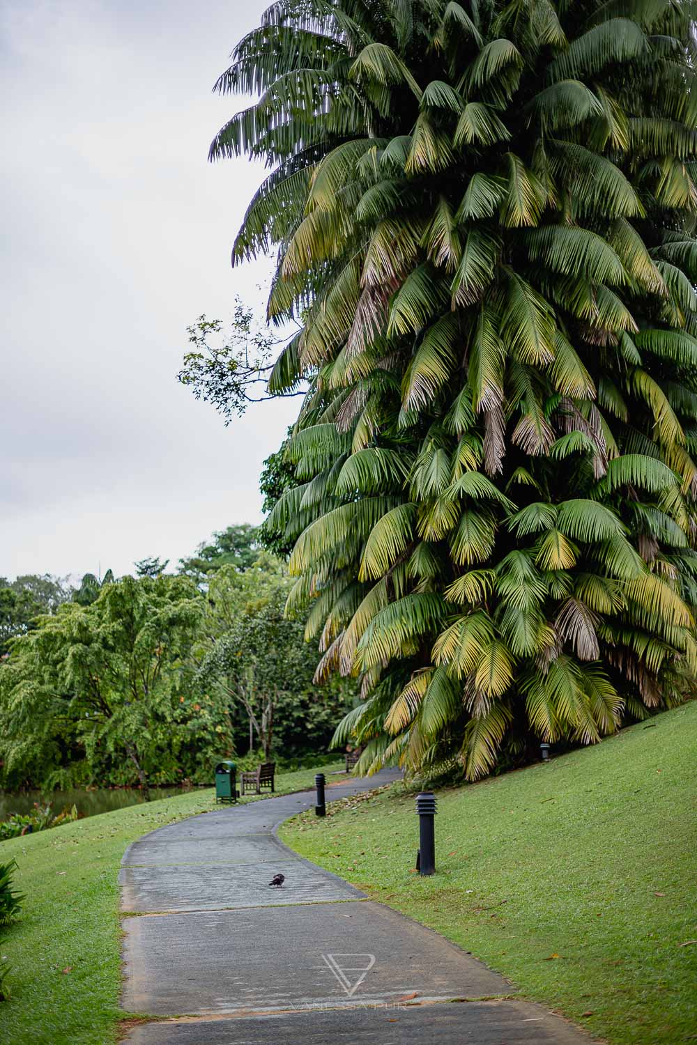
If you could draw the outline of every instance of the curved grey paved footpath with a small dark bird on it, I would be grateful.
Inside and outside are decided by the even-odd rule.
[[[398,775],[331,784],[327,798]],[[122,1007],[160,1019],[125,1042],[588,1045],[458,947],[283,845],[275,829],[313,804],[308,791],[217,808],[126,850]],[[282,887],[270,887],[279,873]]]

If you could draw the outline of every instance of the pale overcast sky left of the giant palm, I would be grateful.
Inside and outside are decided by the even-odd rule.
[[[260,0],[0,0],[0,575],[118,574],[258,521],[298,400],[228,428],[176,380],[185,328],[263,310],[230,268],[264,177],[207,149],[211,87]]]

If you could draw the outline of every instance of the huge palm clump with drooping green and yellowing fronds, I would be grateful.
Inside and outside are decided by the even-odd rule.
[[[336,741],[469,779],[593,743],[697,670],[697,89],[681,0],[279,0],[211,145],[271,173],[233,262],[278,265],[308,385],[295,542]]]

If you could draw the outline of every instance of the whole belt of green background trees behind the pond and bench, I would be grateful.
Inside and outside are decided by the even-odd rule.
[[[326,752],[355,686],[315,683],[303,623],[282,613],[283,560],[260,551],[240,568],[233,558],[203,590],[163,565],[144,559],[139,577],[102,584],[87,575],[83,602],[32,605],[13,631],[0,660],[0,786],[147,790],[210,782],[230,756]],[[0,587],[0,613],[5,590],[17,598]]]

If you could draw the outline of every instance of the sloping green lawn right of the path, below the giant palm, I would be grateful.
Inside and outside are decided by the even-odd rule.
[[[402,786],[301,815],[283,840],[612,1043],[697,1039],[697,702],[604,743],[438,794],[413,873]]]

